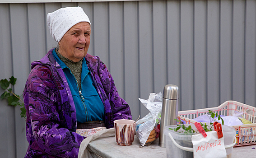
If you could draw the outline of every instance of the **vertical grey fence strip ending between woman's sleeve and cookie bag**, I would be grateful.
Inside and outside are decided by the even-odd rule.
[[[124,98],[130,106],[133,119],[140,115],[138,57],[138,2],[124,2]]]

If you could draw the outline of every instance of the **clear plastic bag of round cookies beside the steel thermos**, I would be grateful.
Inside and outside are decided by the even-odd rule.
[[[150,93],[149,99],[140,102],[149,110],[149,114],[136,122],[136,136],[142,146],[149,145],[159,137],[162,112],[162,93]]]

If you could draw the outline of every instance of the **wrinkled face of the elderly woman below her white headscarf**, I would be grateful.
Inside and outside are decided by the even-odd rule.
[[[87,22],[75,24],[61,38],[59,52],[69,60],[78,62],[86,56],[90,45],[91,27]]]

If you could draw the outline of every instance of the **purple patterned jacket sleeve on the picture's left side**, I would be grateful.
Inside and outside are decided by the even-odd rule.
[[[84,137],[72,129],[65,128],[62,108],[55,84],[47,79],[33,76],[24,90],[24,104],[27,110],[27,139],[29,148],[27,155],[38,153],[54,157],[77,158],[80,143]],[[29,156],[28,156],[29,157]]]

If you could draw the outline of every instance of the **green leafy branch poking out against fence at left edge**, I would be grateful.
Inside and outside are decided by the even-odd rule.
[[[9,78],[9,81],[7,79],[1,79],[0,80],[0,86],[5,90],[5,92],[0,96],[0,99],[7,99],[8,105],[10,106],[19,106],[21,107],[20,110],[20,116],[26,118],[26,109],[24,107],[24,102],[20,99],[20,96],[12,92],[12,87],[14,84],[16,84],[16,78],[12,76]]]

